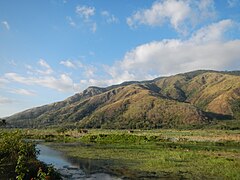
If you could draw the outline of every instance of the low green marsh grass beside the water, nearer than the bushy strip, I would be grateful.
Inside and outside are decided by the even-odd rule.
[[[120,171],[156,173],[156,177],[169,174],[170,177],[196,179],[239,179],[239,154],[206,153],[204,151],[185,152],[183,150],[144,148],[144,147],[109,147],[91,148],[62,147],[68,155],[79,158],[115,160],[109,168]],[[137,174],[135,174],[137,177]]]

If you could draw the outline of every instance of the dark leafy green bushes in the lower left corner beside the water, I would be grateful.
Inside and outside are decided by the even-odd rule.
[[[60,179],[52,167],[39,162],[33,143],[24,141],[20,131],[0,132],[0,177],[1,179],[45,180]]]

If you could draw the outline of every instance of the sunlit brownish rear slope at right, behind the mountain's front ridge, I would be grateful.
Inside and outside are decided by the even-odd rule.
[[[230,72],[199,72],[195,76],[191,72],[155,83],[168,98],[189,102],[220,118],[239,118],[240,76]]]

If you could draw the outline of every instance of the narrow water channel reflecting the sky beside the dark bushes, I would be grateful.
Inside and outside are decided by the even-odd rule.
[[[68,158],[63,153],[56,151],[43,144],[37,144],[36,148],[40,150],[38,159],[51,164],[62,175],[63,179],[68,180],[119,180],[104,171],[104,167],[99,167],[97,162],[91,160],[79,160]]]

